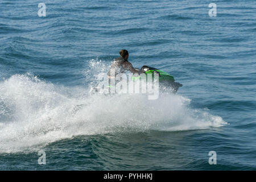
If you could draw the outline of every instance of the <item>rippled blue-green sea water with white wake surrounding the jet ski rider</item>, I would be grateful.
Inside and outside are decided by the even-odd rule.
[[[255,1],[38,3],[0,2],[1,170],[256,169]],[[91,96],[121,49],[183,87]]]

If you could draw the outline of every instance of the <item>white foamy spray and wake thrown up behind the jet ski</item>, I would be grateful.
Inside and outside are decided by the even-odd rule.
[[[92,60],[92,69],[104,64],[97,61]],[[179,94],[161,94],[158,100],[143,94],[91,95],[88,86],[68,88],[30,74],[13,75],[0,82],[0,152],[35,151],[77,135],[226,124],[206,110],[191,109],[189,102]]]

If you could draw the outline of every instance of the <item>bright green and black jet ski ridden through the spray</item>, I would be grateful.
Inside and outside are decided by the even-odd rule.
[[[175,79],[172,75],[168,74],[167,72],[161,71],[157,68],[153,67],[148,67],[147,65],[144,65],[141,69],[135,68],[138,71],[138,74],[145,73],[146,76],[148,74],[152,74],[152,80],[154,79],[154,73],[159,74],[159,88],[162,91],[167,91],[167,92],[172,92],[176,93],[177,90],[183,86],[179,82],[175,82]],[[137,80],[141,78],[140,76],[138,77],[133,77],[133,80]]]

